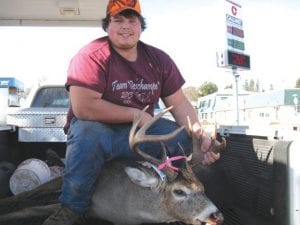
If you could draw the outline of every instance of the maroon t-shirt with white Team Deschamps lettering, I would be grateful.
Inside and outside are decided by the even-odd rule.
[[[143,109],[153,115],[160,97],[175,93],[184,79],[173,60],[163,51],[138,42],[138,57],[130,62],[110,45],[108,37],[83,47],[71,60],[66,88],[85,87],[103,94],[103,99],[122,106]],[[70,107],[66,128],[74,117]]]

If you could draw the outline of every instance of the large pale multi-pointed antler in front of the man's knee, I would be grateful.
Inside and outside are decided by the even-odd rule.
[[[155,123],[159,118],[161,118],[165,113],[170,111],[172,107],[166,108],[163,111],[161,111],[159,114],[155,115],[150,121],[145,123],[137,132],[136,129],[140,123],[140,121],[143,118],[144,112],[147,110],[148,106],[146,106],[143,111],[134,118],[130,133],[129,133],[129,145],[131,150],[141,157],[142,159],[153,163],[154,165],[158,166],[160,165],[163,160],[166,158],[166,148],[163,146],[163,159],[157,159],[155,157],[152,157],[151,155],[146,154],[145,152],[141,151],[138,147],[137,144],[139,143],[144,143],[144,142],[162,142],[162,141],[167,141],[172,138],[174,138],[180,131],[182,131],[185,127],[179,127],[173,132],[165,135],[146,135],[146,130],[153,124]]]

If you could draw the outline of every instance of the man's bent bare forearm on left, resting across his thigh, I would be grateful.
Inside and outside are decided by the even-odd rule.
[[[102,94],[96,91],[78,87],[70,87],[70,100],[74,115],[82,120],[94,120],[105,123],[132,122],[140,110],[132,107],[120,106],[102,99]],[[151,115],[144,114],[140,125],[149,120]]]

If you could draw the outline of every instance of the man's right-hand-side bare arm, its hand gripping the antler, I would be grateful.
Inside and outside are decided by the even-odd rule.
[[[193,132],[198,137],[200,137],[202,128],[201,128],[200,121],[198,120],[198,115],[194,107],[192,106],[192,104],[184,96],[182,89],[179,89],[174,94],[164,98],[163,101],[167,107],[173,106],[171,113],[174,116],[178,125],[180,126],[184,125],[186,126],[186,129],[188,129],[187,117],[189,117],[192,124]],[[201,145],[201,150],[203,152],[206,152],[211,143],[211,139],[205,133],[203,134],[203,138],[204,140],[203,140],[203,144]],[[218,160],[219,158],[220,158],[219,153],[215,154],[213,152],[206,152],[204,154],[203,164],[209,165],[215,162],[216,160]]]

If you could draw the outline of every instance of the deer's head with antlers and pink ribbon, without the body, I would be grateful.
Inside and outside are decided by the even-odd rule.
[[[168,110],[170,110],[170,108],[153,117],[151,121],[144,124],[144,126],[136,132],[138,123],[142,118],[142,115],[140,115],[134,121],[129,135],[129,143],[135,154],[162,171],[166,175],[165,179],[161,179],[155,173],[149,172],[149,170],[145,170],[142,167],[128,167],[126,168],[126,172],[135,184],[151,188],[153,191],[160,193],[160,203],[158,204],[160,204],[161,209],[169,218],[169,221],[166,222],[181,221],[186,224],[195,225],[201,225],[202,223],[210,225],[221,224],[223,222],[221,212],[206,197],[204,186],[194,175],[191,163],[187,157],[182,157],[185,163],[181,168],[175,168],[171,165],[170,161],[172,158],[169,159],[167,157],[166,148],[163,144],[162,159],[154,158],[137,147],[138,143],[149,141],[160,141],[162,143],[163,141],[175,137],[184,129],[184,127],[180,127],[167,135],[145,135],[145,131]],[[213,146],[211,146],[210,149],[215,150]],[[193,148],[193,151],[195,150],[196,148]],[[200,150],[198,149],[198,151]],[[197,154],[200,153],[197,152]],[[193,165],[196,165],[195,161]]]

